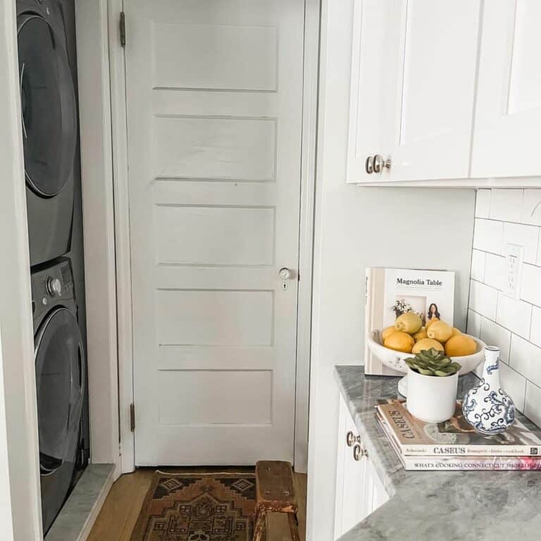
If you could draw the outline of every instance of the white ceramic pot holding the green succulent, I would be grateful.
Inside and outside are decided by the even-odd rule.
[[[406,406],[414,417],[428,423],[442,423],[453,416],[459,374],[422,375],[408,370]]]

